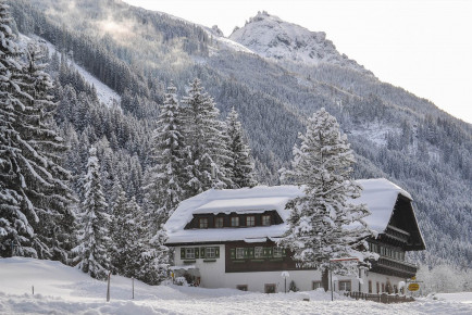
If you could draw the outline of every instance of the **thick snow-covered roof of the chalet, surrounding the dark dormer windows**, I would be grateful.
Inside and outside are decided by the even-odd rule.
[[[388,225],[398,194],[412,200],[411,196],[385,178],[360,179],[361,197],[352,203],[365,203],[371,214],[364,218],[369,227],[383,232]],[[286,203],[303,194],[303,187],[298,186],[258,186],[241,189],[211,189],[183,201],[165,224],[169,243],[219,242],[245,240],[247,242],[264,241],[282,236],[287,225],[289,212]],[[185,229],[194,214],[204,213],[262,213],[276,211],[283,224],[257,226],[250,228],[209,228]]]

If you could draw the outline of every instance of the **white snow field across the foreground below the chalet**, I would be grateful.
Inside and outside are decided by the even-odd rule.
[[[386,305],[338,295],[331,302],[319,291],[262,294],[135,281],[132,300],[132,280],[119,276],[109,303],[105,291],[105,282],[58,262],[0,259],[0,314],[472,314],[471,292]]]

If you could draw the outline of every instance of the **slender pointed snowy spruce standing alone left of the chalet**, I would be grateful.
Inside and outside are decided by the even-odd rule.
[[[78,245],[73,250],[77,253],[77,267],[97,279],[105,279],[110,269],[110,215],[107,213],[101,182],[100,166],[96,148],[90,148],[87,163],[87,174],[84,178],[84,201],[79,214]]]

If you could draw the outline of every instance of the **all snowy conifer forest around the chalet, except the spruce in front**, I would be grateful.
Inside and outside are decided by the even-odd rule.
[[[163,224],[178,203],[299,184],[294,144],[327,112],[353,178],[413,197],[426,250],[408,260],[472,267],[472,126],[352,60],[272,61],[112,0],[1,0],[0,37],[1,257],[160,284],[172,263]]]

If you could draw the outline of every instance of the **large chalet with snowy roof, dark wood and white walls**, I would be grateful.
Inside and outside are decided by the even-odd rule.
[[[393,293],[417,273],[405,253],[425,249],[412,198],[384,178],[358,182],[363,191],[352,202],[365,203],[371,212],[364,220],[377,234],[368,242],[380,259],[370,269],[360,268],[359,278],[334,276],[333,289]],[[212,189],[183,201],[165,224],[175,275],[204,288],[283,292],[286,281],[294,281],[300,290],[331,289],[326,273],[301,268],[276,245],[288,228],[285,205],[302,193],[298,186],[259,186]]]

